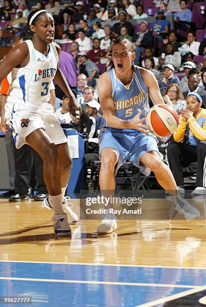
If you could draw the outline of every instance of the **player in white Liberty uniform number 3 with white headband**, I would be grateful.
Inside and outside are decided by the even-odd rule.
[[[53,43],[54,20],[45,10],[33,11],[23,36],[28,40],[13,48],[0,63],[0,81],[12,72],[12,83],[5,106],[5,117],[13,129],[17,148],[33,147],[43,160],[44,180],[49,192],[48,204],[54,210],[54,232],[71,235],[63,197],[72,161],[67,138],[53,107],[48,103],[54,79],[69,98],[70,110],[81,115],[73,93],[59,69],[60,48]],[[75,221],[78,218],[75,215]]]

